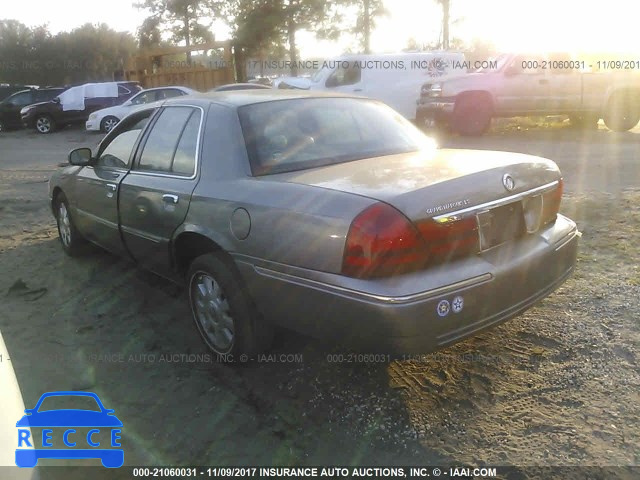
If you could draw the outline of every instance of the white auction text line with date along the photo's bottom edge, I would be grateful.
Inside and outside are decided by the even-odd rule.
[[[495,467],[134,467],[134,477],[434,478],[496,477]]]

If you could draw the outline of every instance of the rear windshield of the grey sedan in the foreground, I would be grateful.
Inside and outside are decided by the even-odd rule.
[[[254,175],[412,152],[431,145],[400,114],[372,100],[301,98],[246,105],[238,111]]]

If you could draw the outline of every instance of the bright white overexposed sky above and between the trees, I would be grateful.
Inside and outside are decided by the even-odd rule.
[[[451,34],[465,41],[492,42],[499,50],[588,50],[638,52],[640,2],[635,0],[451,0]],[[29,26],[48,24],[53,33],[71,30],[86,22],[104,22],[119,31],[135,33],[145,11],[132,0],[3,0],[0,18],[12,18]],[[440,35],[441,10],[435,0],[385,0],[389,15],[378,20],[372,34],[372,50],[393,52],[407,46],[432,43]],[[216,38],[228,30],[219,26]],[[311,33],[299,36],[303,58],[331,57],[342,53],[347,41],[319,42]]]

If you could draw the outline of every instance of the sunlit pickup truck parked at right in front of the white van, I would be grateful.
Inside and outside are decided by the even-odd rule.
[[[568,115],[578,126],[602,118],[611,130],[632,129],[640,121],[640,75],[585,71],[596,64],[564,54],[502,54],[492,68],[424,84],[416,123],[482,135],[495,117]]]

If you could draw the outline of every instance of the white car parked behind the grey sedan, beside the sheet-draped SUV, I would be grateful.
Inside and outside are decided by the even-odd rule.
[[[129,115],[136,106],[145,105],[167,98],[179,97],[181,95],[192,95],[198,93],[188,87],[157,87],[143,90],[134,95],[122,105],[115,107],[103,108],[89,115],[86,123],[87,130],[94,132],[109,133],[120,120]]]

